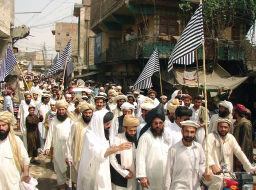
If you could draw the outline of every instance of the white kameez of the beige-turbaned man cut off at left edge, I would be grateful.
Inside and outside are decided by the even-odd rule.
[[[29,165],[26,149],[18,136],[15,136],[23,165]],[[19,190],[20,174],[16,168],[9,138],[0,141],[0,190]]]

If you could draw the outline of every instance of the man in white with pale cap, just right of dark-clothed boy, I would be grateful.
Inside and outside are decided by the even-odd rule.
[[[42,94],[41,97],[41,102],[39,104],[37,104],[39,110],[41,111],[43,120],[42,122],[38,123],[38,130],[39,130],[39,137],[40,137],[40,144],[41,144],[41,149],[40,152],[43,153],[44,150],[44,143],[45,143],[45,139],[46,139],[46,131],[45,131],[45,127],[44,127],[44,121],[45,121],[45,115],[46,113],[48,113],[48,111],[50,110],[50,96],[51,94]]]

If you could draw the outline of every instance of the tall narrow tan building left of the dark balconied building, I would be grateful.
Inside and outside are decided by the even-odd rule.
[[[82,0],[81,4],[74,4],[73,15],[78,17],[78,55],[82,63],[79,74],[96,69],[94,65],[95,33],[90,29],[90,1]]]

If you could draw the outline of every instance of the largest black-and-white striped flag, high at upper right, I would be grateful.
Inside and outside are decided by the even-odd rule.
[[[184,31],[182,32],[178,42],[173,48],[169,61],[168,72],[173,68],[173,63],[191,64],[192,52],[202,45],[203,36],[203,21],[202,21],[202,5],[196,9]]]

